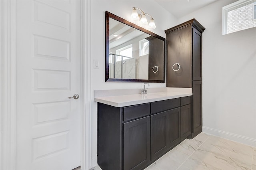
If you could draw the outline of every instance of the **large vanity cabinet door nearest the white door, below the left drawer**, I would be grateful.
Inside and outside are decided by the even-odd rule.
[[[124,123],[124,170],[150,163],[150,116]]]

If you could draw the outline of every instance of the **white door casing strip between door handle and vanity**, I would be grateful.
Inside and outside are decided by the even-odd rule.
[[[88,170],[91,167],[91,61],[90,61],[90,0],[81,1],[81,169]]]

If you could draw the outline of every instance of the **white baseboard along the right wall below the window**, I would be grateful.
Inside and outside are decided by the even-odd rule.
[[[238,134],[224,132],[222,130],[217,130],[217,129],[214,129],[214,128],[209,128],[209,127],[204,127],[204,126],[203,126],[202,131],[204,133],[207,133],[207,134],[211,134],[211,135],[214,135],[214,136],[218,136],[218,137],[221,137],[221,138],[226,138],[228,140],[233,140],[235,142],[239,142],[239,143],[242,143],[242,144],[246,144],[246,145],[256,147],[256,139],[254,139],[254,138],[248,138],[246,136],[241,136],[241,135],[238,135]]]

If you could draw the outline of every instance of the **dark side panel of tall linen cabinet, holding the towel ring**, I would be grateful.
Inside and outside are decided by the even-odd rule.
[[[166,32],[167,73],[166,87],[189,87],[192,84],[191,61],[191,26]],[[175,63],[179,63],[180,67]],[[177,71],[174,71],[177,70]]]

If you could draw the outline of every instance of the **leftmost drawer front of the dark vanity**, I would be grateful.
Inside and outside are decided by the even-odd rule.
[[[124,107],[124,121],[150,115],[150,103]]]

